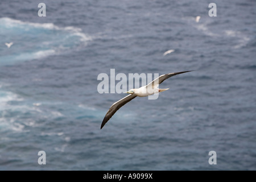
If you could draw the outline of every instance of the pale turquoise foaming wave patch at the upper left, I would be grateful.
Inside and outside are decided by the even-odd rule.
[[[78,27],[59,27],[53,23],[32,23],[0,18],[0,64],[42,59],[84,47],[92,37]],[[13,42],[10,48],[5,42]]]

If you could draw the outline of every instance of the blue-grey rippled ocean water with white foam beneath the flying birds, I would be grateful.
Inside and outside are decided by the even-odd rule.
[[[256,169],[255,1],[214,1],[216,17],[203,0],[40,2],[0,2],[1,170]],[[126,96],[98,93],[110,69],[195,72],[100,130]]]

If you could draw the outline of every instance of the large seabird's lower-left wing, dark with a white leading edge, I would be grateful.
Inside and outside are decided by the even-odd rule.
[[[133,100],[135,97],[134,94],[129,94],[126,97],[123,97],[121,100],[115,102],[108,110],[108,112],[105,115],[105,118],[103,119],[102,123],[101,123],[101,129],[102,127],[104,127],[104,125],[106,124],[106,122],[109,121],[109,119],[115,114],[115,112],[120,109],[123,105],[125,105],[127,102],[130,102],[131,100]]]

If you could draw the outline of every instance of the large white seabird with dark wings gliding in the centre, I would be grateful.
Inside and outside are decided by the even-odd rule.
[[[146,96],[150,96],[152,94],[155,93],[159,93],[159,92],[163,92],[165,90],[168,89],[159,89],[158,86],[159,84],[161,84],[164,80],[174,76],[174,75],[179,75],[181,73],[187,73],[187,72],[191,72],[191,71],[185,71],[185,72],[176,72],[176,73],[168,73],[165,75],[161,75],[158,78],[156,78],[155,80],[153,80],[152,82],[150,82],[148,85],[146,86],[142,86],[141,88],[138,89],[131,89],[125,93],[129,93],[128,96],[122,98],[121,100],[115,102],[108,110],[108,112],[105,115],[105,118],[103,119],[102,123],[101,123],[101,129],[102,127],[104,127],[104,125],[106,124],[106,122],[109,121],[109,119],[115,114],[115,112],[120,109],[123,105],[125,105],[127,102],[130,102],[131,100],[133,100],[135,97],[139,96],[139,97],[146,97]]]

